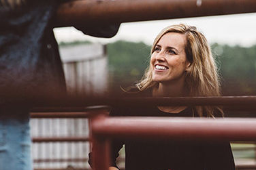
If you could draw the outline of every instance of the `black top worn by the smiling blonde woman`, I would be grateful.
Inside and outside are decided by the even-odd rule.
[[[179,113],[162,112],[155,106],[148,108],[114,108],[111,116],[193,116],[192,109]],[[111,166],[116,167],[118,151],[125,144],[126,170],[234,170],[234,158],[229,142],[186,141],[114,141]]]

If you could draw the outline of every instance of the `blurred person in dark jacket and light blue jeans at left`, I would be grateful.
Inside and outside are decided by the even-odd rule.
[[[52,31],[61,2],[0,0],[0,170],[33,168],[29,109],[33,102],[65,96]],[[95,23],[76,27],[96,37],[112,37],[118,31],[119,24]]]

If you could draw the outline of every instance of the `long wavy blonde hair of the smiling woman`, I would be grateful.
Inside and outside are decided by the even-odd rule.
[[[161,30],[159,35],[155,38],[150,54],[153,54],[155,45],[157,45],[159,39],[170,32],[185,34],[187,37],[185,51],[187,60],[191,62],[191,70],[185,73],[185,87],[187,88],[188,95],[220,96],[220,81],[217,65],[212,57],[212,52],[206,37],[204,37],[195,26],[186,24],[167,26]],[[153,68],[149,65],[140,83],[136,84],[140,91],[158,85],[157,82],[153,81],[152,74]],[[207,116],[214,116],[214,110],[216,111],[216,109],[223,114],[219,106],[195,106],[193,112],[197,112],[199,116],[203,116],[203,113],[206,113]]]

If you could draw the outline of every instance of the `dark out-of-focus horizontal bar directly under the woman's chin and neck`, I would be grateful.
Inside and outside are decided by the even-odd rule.
[[[34,101],[35,106],[44,107],[86,107],[86,106],[249,106],[256,107],[256,96],[223,97],[177,97],[177,98],[89,98],[67,97],[58,100]],[[97,107],[96,107],[97,109]],[[106,109],[106,108],[103,108]],[[91,109],[90,109],[91,110]]]

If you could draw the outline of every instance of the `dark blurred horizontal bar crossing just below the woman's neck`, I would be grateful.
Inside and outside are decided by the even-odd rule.
[[[36,101],[35,101],[36,102]],[[93,115],[97,108],[108,110],[108,106],[224,106],[227,110],[256,110],[256,96],[223,96],[223,97],[176,97],[176,98],[86,98],[86,96],[66,97],[59,100],[39,101],[33,112],[78,112]],[[43,106],[42,106],[43,105]],[[97,110],[97,111],[96,111]],[[79,113],[80,112],[80,113]],[[86,112],[86,113],[82,113]],[[63,113],[64,114],[64,113]],[[62,113],[60,116],[65,116]],[[44,116],[44,114],[34,114]],[[57,116],[57,114],[54,114]],[[68,115],[68,114],[67,114]],[[90,115],[87,115],[90,116]]]

